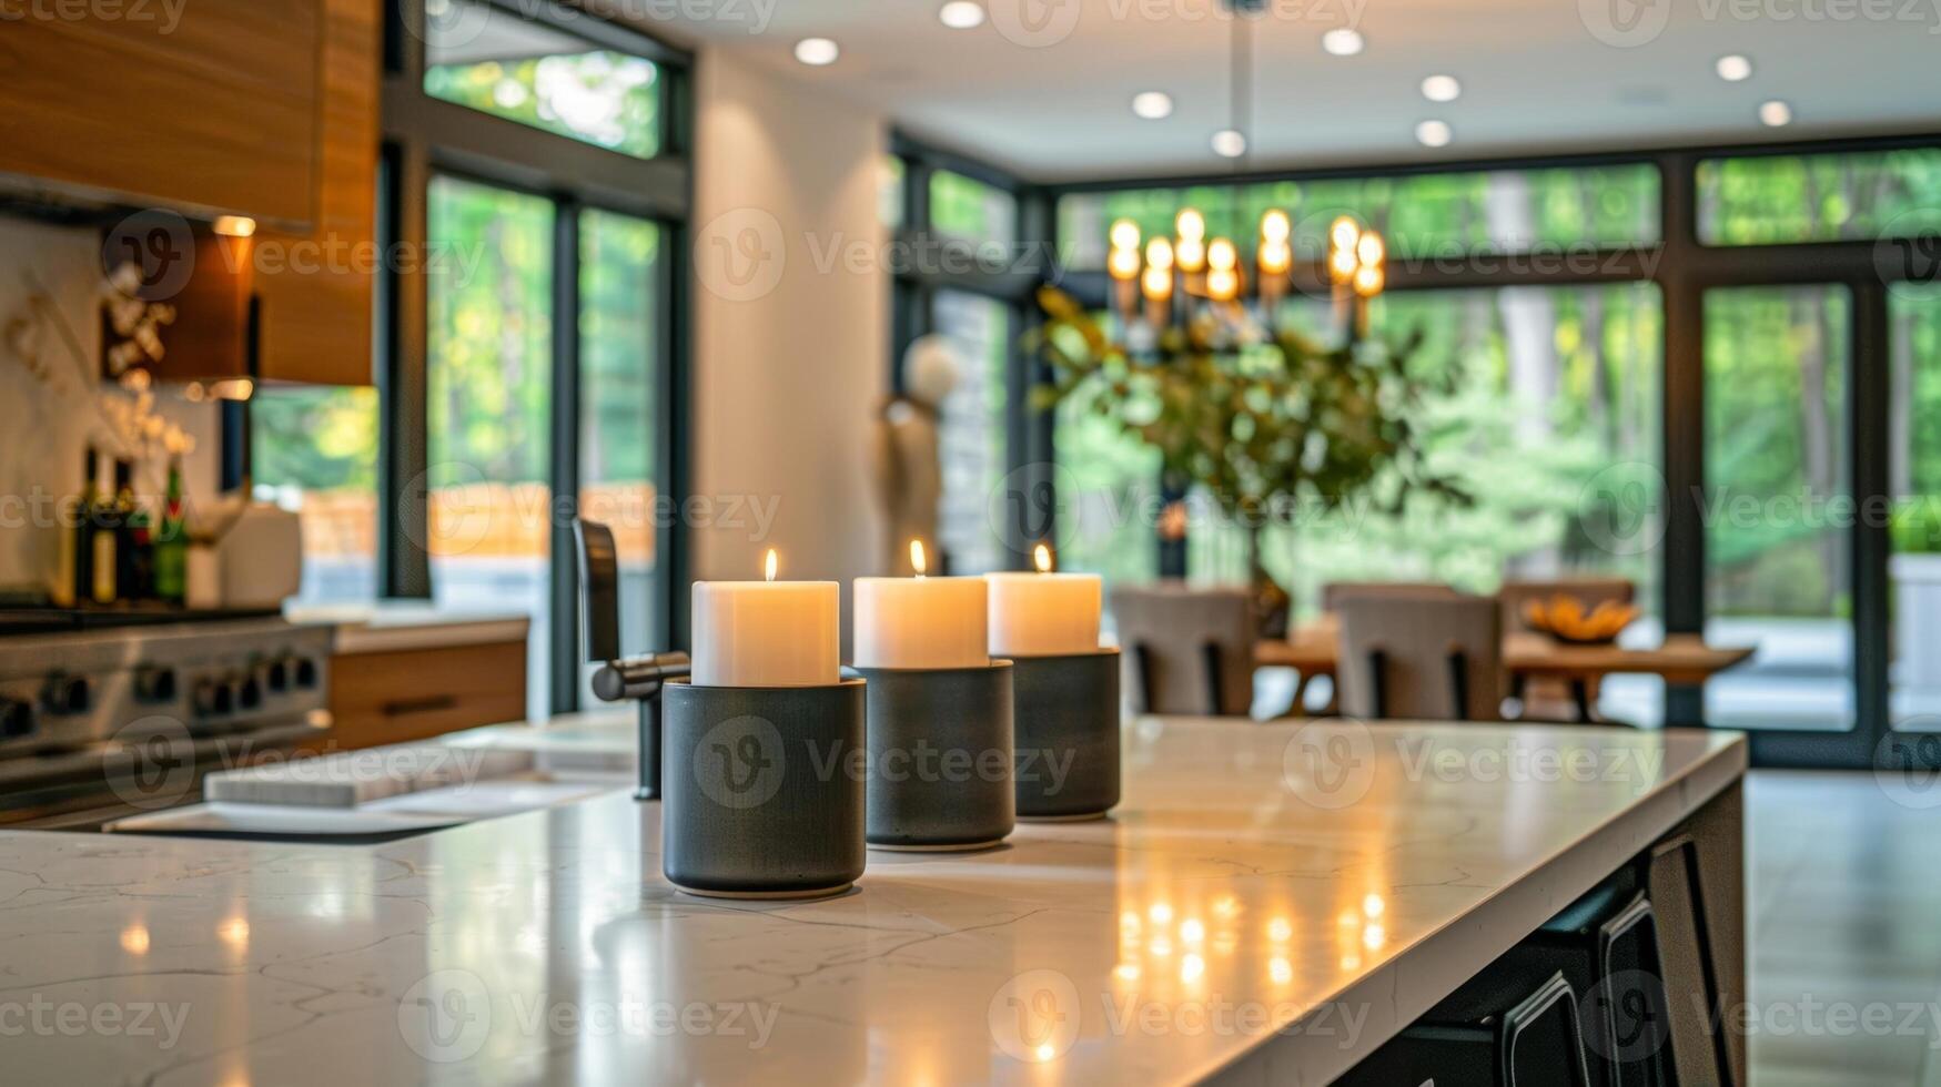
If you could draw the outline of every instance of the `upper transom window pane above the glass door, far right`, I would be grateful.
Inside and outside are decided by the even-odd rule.
[[[1698,241],[1875,241],[1941,229],[1941,148],[1698,163]]]

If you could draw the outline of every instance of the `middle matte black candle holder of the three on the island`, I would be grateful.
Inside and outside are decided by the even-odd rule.
[[[852,672],[870,681],[870,848],[961,852],[1009,837],[1011,662]]]

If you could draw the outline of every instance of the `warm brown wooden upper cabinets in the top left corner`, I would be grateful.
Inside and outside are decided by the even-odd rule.
[[[194,239],[157,377],[245,377],[254,295],[256,377],[371,384],[380,6],[196,0],[0,19],[12,188],[258,221],[247,243]]]

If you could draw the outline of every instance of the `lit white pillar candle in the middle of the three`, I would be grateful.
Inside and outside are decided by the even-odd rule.
[[[856,578],[856,668],[984,668],[984,578],[924,576],[910,544],[908,578]]]

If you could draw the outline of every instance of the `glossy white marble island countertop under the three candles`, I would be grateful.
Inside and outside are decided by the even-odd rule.
[[[1718,732],[1128,726],[1110,821],[660,875],[623,792],[380,846],[0,833],[33,1083],[1322,1083],[1743,774]]]

